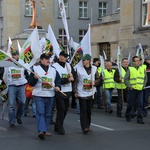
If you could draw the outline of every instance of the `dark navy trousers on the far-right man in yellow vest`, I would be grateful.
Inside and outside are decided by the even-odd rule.
[[[127,109],[125,116],[126,118],[131,117],[131,111],[135,101],[137,100],[138,105],[138,113],[137,113],[137,120],[143,120],[142,113],[143,113],[143,91],[139,90],[129,90],[128,91],[128,101],[127,101]]]

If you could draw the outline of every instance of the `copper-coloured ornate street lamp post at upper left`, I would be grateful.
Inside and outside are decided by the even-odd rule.
[[[43,1],[38,1],[38,2],[42,4],[42,9],[45,9],[44,2]],[[32,20],[31,20],[31,23],[29,26],[30,29],[34,29],[35,27],[37,27],[38,29],[42,29],[42,26],[40,26],[40,24],[38,23],[38,20],[36,18],[37,4],[38,3],[35,0],[28,0],[28,2],[26,3],[26,6],[28,6],[28,5],[32,6]]]

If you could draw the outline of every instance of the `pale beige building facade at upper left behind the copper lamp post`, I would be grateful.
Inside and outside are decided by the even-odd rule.
[[[0,46],[4,50],[7,49],[9,37],[12,41],[20,40],[22,45],[32,31],[32,29],[31,31],[27,31],[32,20],[32,7],[29,7],[27,4],[28,1],[29,0],[1,0]],[[53,27],[53,0],[43,0],[43,3],[41,3],[40,0],[35,0],[35,2],[36,17],[42,26],[39,32],[45,34],[49,24]],[[45,6],[44,9],[42,9],[43,5]],[[29,9],[31,10],[30,12]]]

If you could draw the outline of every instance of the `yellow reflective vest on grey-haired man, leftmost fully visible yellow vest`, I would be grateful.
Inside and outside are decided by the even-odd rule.
[[[104,89],[115,88],[114,74],[115,74],[114,69],[112,69],[111,72],[109,72],[107,69],[104,69],[104,83],[103,83]]]

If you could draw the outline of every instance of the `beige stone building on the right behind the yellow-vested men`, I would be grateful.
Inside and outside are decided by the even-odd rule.
[[[144,21],[145,20],[145,21]],[[148,20],[148,23],[146,23]],[[121,0],[120,8],[104,16],[102,23],[91,27],[93,57],[103,55],[114,61],[120,46],[121,56],[136,55],[139,43],[144,55],[150,55],[150,3],[148,0]]]

